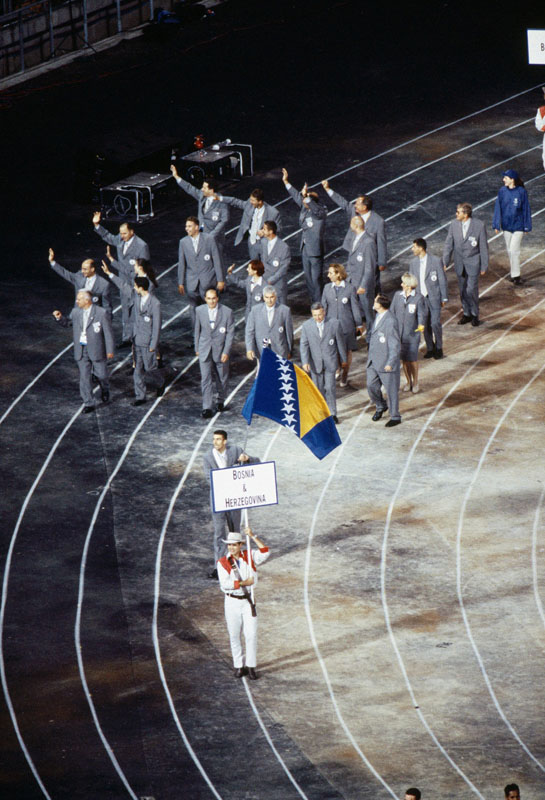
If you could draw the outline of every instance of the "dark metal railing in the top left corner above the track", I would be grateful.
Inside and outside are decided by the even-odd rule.
[[[3,0],[4,8],[17,0]],[[0,16],[0,79],[153,19],[154,0],[38,0]]]

